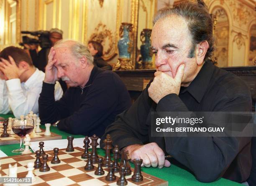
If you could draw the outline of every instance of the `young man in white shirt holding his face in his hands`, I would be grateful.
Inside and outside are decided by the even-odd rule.
[[[15,117],[31,110],[38,113],[44,72],[33,66],[30,56],[21,48],[7,47],[0,52],[0,114],[12,111]],[[55,84],[54,97],[62,97],[60,84]],[[54,100],[53,100],[54,101]]]

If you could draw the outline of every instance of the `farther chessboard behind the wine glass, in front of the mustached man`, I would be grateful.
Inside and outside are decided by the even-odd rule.
[[[44,135],[44,130],[41,129],[42,132],[36,132],[37,136],[32,137],[31,141],[44,141],[44,140],[60,140],[62,139],[61,135],[57,135],[54,132],[51,132],[51,135],[45,136]],[[3,133],[3,124],[0,123],[0,135]],[[10,145],[10,144],[15,144],[15,143],[20,143],[20,137],[15,134],[10,134],[10,126],[8,125],[7,127],[7,133],[9,134],[9,137],[6,138],[1,138],[0,137],[0,145]]]

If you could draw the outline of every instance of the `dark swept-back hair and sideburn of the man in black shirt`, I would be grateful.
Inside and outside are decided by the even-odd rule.
[[[192,46],[189,51],[189,58],[195,56],[196,44],[207,41],[209,48],[205,54],[205,59],[212,56],[214,51],[214,38],[212,34],[212,18],[208,13],[205,3],[198,1],[199,3],[185,2],[180,3],[174,8],[166,7],[158,10],[153,19],[153,25],[159,20],[169,17],[170,15],[179,15],[187,20],[187,26],[192,36]]]

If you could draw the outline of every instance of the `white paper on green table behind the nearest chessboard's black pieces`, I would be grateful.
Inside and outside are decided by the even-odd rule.
[[[89,138],[90,139],[90,138]],[[40,141],[34,141],[30,142],[30,148],[36,152],[36,150],[39,150],[39,142]],[[91,143],[90,139],[90,143]],[[100,138],[98,139],[97,143],[100,143]],[[53,150],[54,148],[67,148],[68,140],[63,139],[63,140],[46,140],[44,141],[44,151],[47,150]],[[73,140],[73,147],[80,147],[83,148],[84,146],[84,138],[74,138]],[[92,148],[92,147],[90,147]],[[100,148],[100,145],[97,146],[97,148]]]

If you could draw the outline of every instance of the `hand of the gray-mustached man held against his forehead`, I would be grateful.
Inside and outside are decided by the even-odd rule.
[[[55,82],[59,80],[57,68],[54,66],[54,64],[57,62],[57,59],[54,59],[54,55],[54,48],[51,47],[51,50],[48,55],[48,64],[45,67],[45,83],[55,84]]]

